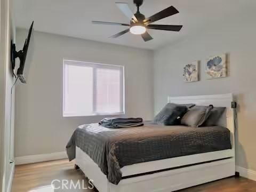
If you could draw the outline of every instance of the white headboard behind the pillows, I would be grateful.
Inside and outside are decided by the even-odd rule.
[[[233,94],[216,94],[216,95],[196,95],[186,97],[168,97],[168,102],[172,103],[194,103],[200,106],[213,105],[214,107],[226,107],[226,114],[224,113],[218,122],[218,125],[227,127],[230,130],[230,140],[233,149],[235,150],[235,124],[234,124],[234,110],[231,108],[233,101]]]

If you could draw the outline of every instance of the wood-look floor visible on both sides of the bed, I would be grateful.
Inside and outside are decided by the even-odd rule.
[[[28,165],[18,165],[15,167],[15,174],[12,185],[12,192],[57,192],[57,191],[91,191],[95,192],[96,189],[59,189],[53,190],[51,182],[54,179],[58,180],[73,180],[76,184],[77,181],[85,181],[84,188],[87,186],[87,180],[81,171],[74,169],[74,164],[69,163],[68,160],[35,163]],[[55,187],[59,187],[54,183]],[[68,184],[69,185],[69,184]],[[65,187],[64,187],[65,188]],[[256,191],[256,181],[251,181],[245,178],[228,178],[205,185],[180,190],[179,192],[237,192],[237,191]],[[136,192],[136,191],[134,191]],[[139,192],[139,191],[138,191]]]

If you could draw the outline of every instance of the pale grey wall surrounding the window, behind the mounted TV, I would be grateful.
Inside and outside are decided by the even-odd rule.
[[[19,47],[26,36],[26,30],[17,30]],[[152,51],[39,32],[29,49],[28,83],[16,90],[15,157],[65,151],[78,125],[103,118],[62,117],[63,58],[124,65],[126,116],[152,119]]]

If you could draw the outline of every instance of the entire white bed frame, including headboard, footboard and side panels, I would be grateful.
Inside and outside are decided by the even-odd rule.
[[[76,148],[76,164],[87,178],[93,180],[94,186],[100,192],[170,192],[231,177],[235,175],[235,126],[231,101],[233,101],[231,93],[168,97],[168,102],[173,103],[195,103],[204,106],[212,104],[215,107],[227,107],[226,114],[223,114],[218,125],[230,130],[232,149],[128,165],[121,169],[123,177],[173,169],[122,179],[118,185],[110,183],[99,166],[79,148]]]

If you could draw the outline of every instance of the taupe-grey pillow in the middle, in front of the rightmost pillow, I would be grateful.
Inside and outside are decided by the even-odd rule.
[[[209,117],[213,106],[195,106],[188,110],[188,112],[182,117],[181,124],[191,127],[199,127]]]

